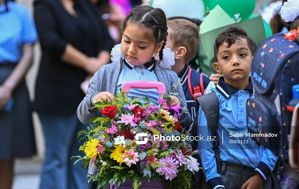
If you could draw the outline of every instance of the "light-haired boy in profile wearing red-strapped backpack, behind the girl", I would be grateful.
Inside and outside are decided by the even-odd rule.
[[[187,19],[167,20],[167,42],[165,47],[175,54],[175,64],[171,67],[182,80],[182,87],[187,108],[194,121],[198,112],[197,97],[211,93],[214,83],[196,70],[189,68],[188,63],[194,58],[199,46],[199,28]]]

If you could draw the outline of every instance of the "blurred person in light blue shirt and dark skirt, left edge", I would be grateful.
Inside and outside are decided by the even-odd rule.
[[[11,189],[14,158],[36,153],[25,82],[36,40],[29,10],[0,0],[0,189]]]

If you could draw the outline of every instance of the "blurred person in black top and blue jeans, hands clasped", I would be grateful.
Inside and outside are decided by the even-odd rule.
[[[76,114],[85,96],[80,85],[110,63],[113,40],[90,0],[34,0],[34,20],[42,57],[33,108],[46,145],[40,189],[88,189],[87,168],[70,161],[84,156],[77,139],[87,126]]]

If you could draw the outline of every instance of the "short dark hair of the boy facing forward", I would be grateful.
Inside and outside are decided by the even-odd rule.
[[[214,44],[214,56],[216,61],[218,62],[217,55],[219,53],[219,47],[223,42],[227,42],[227,47],[230,47],[235,43],[236,40],[246,39],[249,50],[251,51],[252,56],[257,48],[254,40],[249,37],[246,31],[240,26],[230,26],[225,31],[222,31],[215,39]]]

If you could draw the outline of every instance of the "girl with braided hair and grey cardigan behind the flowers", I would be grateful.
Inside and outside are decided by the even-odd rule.
[[[93,103],[106,98],[114,101],[113,95],[120,92],[121,85],[126,81],[159,81],[165,84],[167,91],[172,90],[178,77],[169,70],[169,63],[174,64],[174,55],[170,55],[171,59],[169,53],[164,51],[163,57],[166,36],[166,16],[162,9],[148,5],[136,6],[127,15],[123,24],[122,42],[111,53],[113,63],[103,66],[90,80],[88,94],[77,109],[82,123],[88,124],[92,117],[98,115],[96,109],[91,109]],[[155,53],[159,53],[157,61],[152,57]],[[178,96],[171,96],[168,105],[186,106],[181,85],[178,86],[177,93]],[[158,104],[156,90],[132,89],[129,97],[145,97],[144,94],[149,97],[150,102]],[[190,126],[190,123],[190,114],[184,114],[181,124]]]

